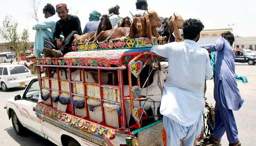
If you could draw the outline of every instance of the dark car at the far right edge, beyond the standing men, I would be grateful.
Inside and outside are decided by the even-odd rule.
[[[235,62],[248,63],[249,65],[256,64],[256,56],[248,55],[246,51],[236,51],[235,56]]]

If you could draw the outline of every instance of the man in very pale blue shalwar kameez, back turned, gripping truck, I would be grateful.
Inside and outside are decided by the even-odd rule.
[[[180,140],[183,146],[193,146],[202,130],[204,81],[213,75],[208,52],[196,43],[203,28],[200,20],[185,20],[183,42],[156,45],[151,49],[169,63],[160,106],[167,146],[179,146]]]

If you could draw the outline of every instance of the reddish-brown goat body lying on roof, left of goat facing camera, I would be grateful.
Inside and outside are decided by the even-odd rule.
[[[105,41],[107,39],[120,39],[121,37],[127,37],[129,33],[129,27],[118,27],[111,30],[101,31],[99,35],[94,39],[96,41]]]

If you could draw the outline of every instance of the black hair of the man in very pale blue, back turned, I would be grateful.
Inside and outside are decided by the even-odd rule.
[[[185,20],[182,30],[184,39],[193,40],[196,38],[196,35],[200,34],[200,32],[204,29],[203,23],[199,19],[191,19]]]

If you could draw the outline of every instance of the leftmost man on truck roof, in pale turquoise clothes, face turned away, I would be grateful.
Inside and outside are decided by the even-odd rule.
[[[35,24],[32,29],[36,30],[35,32],[35,43],[34,43],[34,54],[31,53],[26,58],[42,58],[42,49],[44,48],[44,39],[49,37],[53,39],[53,33],[55,31],[56,22],[60,20],[59,17],[55,15],[55,8],[52,4],[46,4],[43,8],[43,13],[45,15],[45,20],[39,21]],[[50,30],[49,30],[49,29]]]

